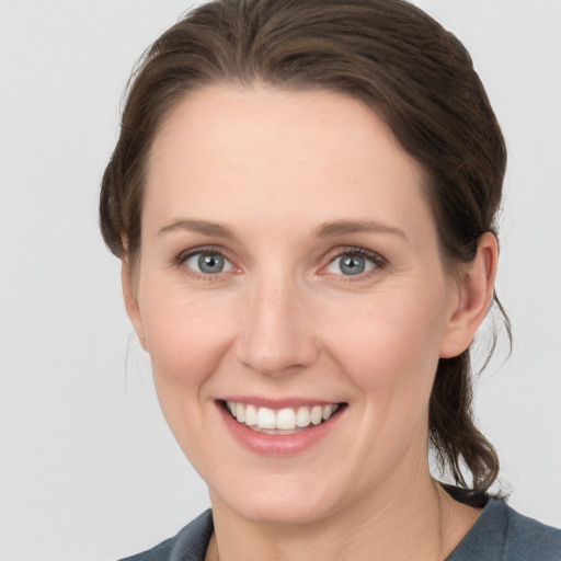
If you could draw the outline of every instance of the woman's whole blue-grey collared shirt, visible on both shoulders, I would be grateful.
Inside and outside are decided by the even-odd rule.
[[[213,530],[206,511],[174,538],[122,561],[204,561]],[[561,561],[561,530],[492,499],[446,561]]]

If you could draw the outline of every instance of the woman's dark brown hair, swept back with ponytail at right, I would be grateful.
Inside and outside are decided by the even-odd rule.
[[[444,263],[472,261],[481,234],[495,233],[506,149],[470,56],[453,34],[404,0],[215,0],[156,41],[130,82],[100,211],[107,247],[133,267],[145,171],[162,118],[187,92],[218,82],[318,88],[362,100],[424,168]],[[496,296],[495,304],[508,328]],[[468,351],[439,360],[430,436],[477,505],[499,459],[472,420]]]

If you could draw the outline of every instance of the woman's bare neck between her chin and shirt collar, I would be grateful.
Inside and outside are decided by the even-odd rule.
[[[419,476],[419,473],[416,474]],[[442,560],[478,516],[434,484],[428,470],[309,524],[263,524],[213,497],[207,561]],[[213,493],[211,493],[213,495]]]

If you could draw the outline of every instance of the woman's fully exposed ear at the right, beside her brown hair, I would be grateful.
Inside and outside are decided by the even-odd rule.
[[[460,355],[473,341],[491,306],[497,260],[496,238],[486,232],[479,239],[476,257],[462,268],[455,287],[457,298],[440,342],[440,358]]]

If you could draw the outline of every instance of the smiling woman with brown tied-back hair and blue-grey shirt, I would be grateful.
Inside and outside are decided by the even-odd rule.
[[[216,1],[156,42],[101,225],[213,512],[134,559],[559,559],[490,497],[470,413],[505,162],[469,55],[407,2]]]

